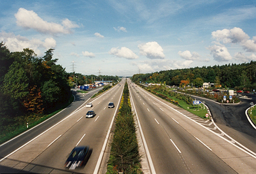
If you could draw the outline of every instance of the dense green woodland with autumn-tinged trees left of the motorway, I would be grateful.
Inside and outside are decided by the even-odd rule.
[[[38,58],[31,49],[10,52],[0,43],[0,127],[19,116],[40,116],[59,109],[70,99],[70,88],[97,79],[118,77],[65,72],[53,58],[53,49]],[[76,84],[77,83],[77,84]]]

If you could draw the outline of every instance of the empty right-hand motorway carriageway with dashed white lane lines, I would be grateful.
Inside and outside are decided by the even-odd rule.
[[[255,173],[256,156],[214,132],[211,120],[130,86],[150,173]]]

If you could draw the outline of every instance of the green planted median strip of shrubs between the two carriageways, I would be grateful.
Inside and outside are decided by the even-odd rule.
[[[116,117],[107,173],[142,173],[140,159],[129,88],[125,83],[119,113]]]

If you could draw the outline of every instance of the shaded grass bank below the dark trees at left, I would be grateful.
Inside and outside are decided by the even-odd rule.
[[[5,141],[8,141],[9,139],[14,138],[15,136],[18,136],[22,132],[27,131],[28,129],[31,129],[35,125],[38,125],[39,123],[44,122],[51,116],[56,115],[56,113],[65,109],[65,107],[71,104],[73,100],[74,100],[74,96],[72,95],[72,97],[70,97],[70,99],[65,105],[63,105],[60,109],[54,111],[49,115],[29,115],[29,116],[20,116],[19,118],[14,118],[13,122],[10,125],[4,125],[3,127],[1,127],[0,145]],[[28,123],[28,128],[27,128],[27,123]]]

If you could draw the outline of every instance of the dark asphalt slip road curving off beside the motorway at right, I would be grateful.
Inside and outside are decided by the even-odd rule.
[[[256,153],[256,130],[245,115],[246,109],[251,106],[250,102],[256,103],[256,96],[250,94],[246,96],[248,98],[238,96],[241,99],[240,104],[219,104],[202,97],[196,99],[205,101],[214,122],[223,132]]]

